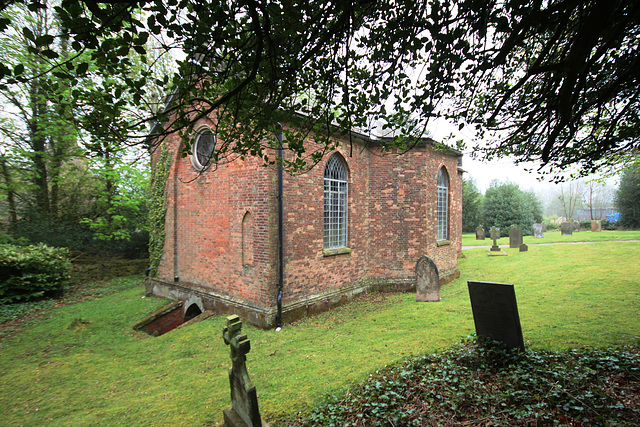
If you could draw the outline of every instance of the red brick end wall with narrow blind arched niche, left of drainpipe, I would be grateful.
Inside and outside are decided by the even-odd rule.
[[[158,279],[173,283],[177,276],[182,286],[203,286],[252,305],[275,300],[273,170],[248,158],[199,173],[180,156],[177,136],[167,142],[173,165]]]

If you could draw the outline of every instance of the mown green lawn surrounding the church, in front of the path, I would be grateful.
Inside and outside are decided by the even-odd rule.
[[[608,233],[604,240],[620,235]],[[640,237],[628,233],[622,240]],[[467,280],[516,285],[531,349],[640,343],[640,243],[505,251],[509,256],[491,258],[482,248],[464,251],[462,276],[442,288],[438,303],[416,303],[415,294],[371,294],[280,332],[245,326],[263,417],[307,412],[327,393],[388,363],[472,334]],[[157,338],[135,332],[133,324],[167,301],[145,298],[141,277],[120,280],[126,290],[50,310],[0,341],[0,424],[221,423],[230,403],[224,316]]]

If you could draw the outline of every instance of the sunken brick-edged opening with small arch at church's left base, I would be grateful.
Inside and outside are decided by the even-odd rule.
[[[183,310],[183,306],[183,301],[174,301],[165,305],[136,323],[133,329],[159,337],[174,329],[200,322],[213,315],[212,311],[205,310],[203,312],[200,310],[197,304],[191,304],[186,311]]]

